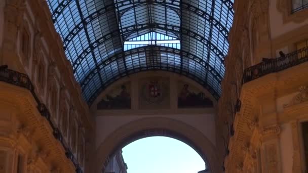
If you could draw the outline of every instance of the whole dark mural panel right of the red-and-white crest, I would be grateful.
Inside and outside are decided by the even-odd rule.
[[[178,82],[178,108],[213,107],[213,102],[205,94],[188,83]]]

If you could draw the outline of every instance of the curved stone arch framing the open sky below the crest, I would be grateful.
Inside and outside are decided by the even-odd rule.
[[[131,121],[113,131],[96,149],[91,172],[101,172],[112,154],[127,144],[151,136],[166,136],[180,140],[200,154],[211,172],[219,172],[216,148],[202,132],[179,120],[147,117]]]

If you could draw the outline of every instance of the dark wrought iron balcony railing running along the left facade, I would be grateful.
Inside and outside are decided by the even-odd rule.
[[[4,82],[7,82],[7,83],[14,84],[16,86],[20,86],[20,87],[25,88],[25,89],[27,89],[31,92],[33,98],[35,99],[35,101],[37,103],[36,108],[37,108],[38,112],[40,112],[40,114],[43,117],[45,117],[46,120],[49,122],[50,126],[53,129],[54,137],[64,147],[65,155],[74,164],[76,173],[81,173],[82,169],[80,168],[78,161],[76,160],[76,158],[74,158],[70,149],[67,146],[65,146],[65,144],[63,142],[62,134],[60,133],[59,129],[51,121],[51,115],[50,115],[50,112],[48,111],[47,107],[43,103],[41,103],[40,100],[37,98],[37,96],[34,92],[34,86],[31,82],[30,78],[28,77],[28,75],[0,66],[0,81],[4,81]]]

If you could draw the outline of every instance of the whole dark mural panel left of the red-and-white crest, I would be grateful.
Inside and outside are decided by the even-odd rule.
[[[106,94],[97,104],[97,109],[131,109],[130,82]]]

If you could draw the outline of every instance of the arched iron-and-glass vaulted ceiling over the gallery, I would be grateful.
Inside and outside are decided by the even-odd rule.
[[[219,98],[234,16],[233,0],[47,2],[89,105],[115,80],[145,70],[185,75]],[[126,47],[125,41],[152,34],[179,40],[180,45]]]

